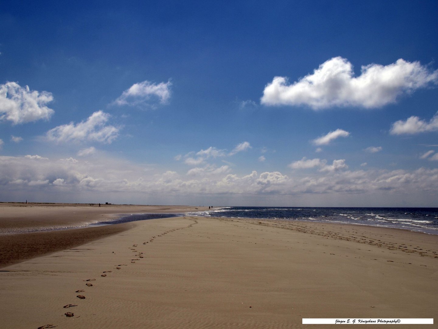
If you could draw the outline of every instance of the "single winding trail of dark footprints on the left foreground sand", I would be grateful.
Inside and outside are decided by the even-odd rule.
[[[180,227],[180,228],[177,228],[177,229],[171,229],[171,230],[169,230],[169,231],[166,231],[166,232],[163,232],[163,233],[161,233],[161,234],[158,234],[157,236],[160,236],[160,237],[161,237],[161,236],[164,236],[164,235],[167,234],[167,233],[174,232],[174,231],[177,231],[177,230],[179,230],[179,229],[189,229],[189,228],[191,228],[193,225],[198,224],[198,221],[197,221],[196,219],[194,219],[194,218],[189,218],[189,219],[193,222],[193,223],[191,223],[190,225],[187,225],[187,226],[184,226],[184,227]],[[143,244],[152,243],[152,242],[155,240],[155,238],[156,238],[156,236],[152,236],[152,238],[151,238],[149,241],[145,241],[145,242],[143,242]],[[132,250],[133,253],[136,253],[136,254],[134,255],[134,257],[137,257],[137,258],[133,258],[133,259],[131,259],[131,263],[133,263],[133,264],[134,264],[136,261],[140,261],[141,258],[144,258],[144,257],[145,257],[144,254],[143,254],[143,252],[137,250],[137,247],[138,247],[138,244],[133,244],[132,247],[129,247],[129,248]],[[121,269],[121,266],[128,266],[128,265],[127,265],[127,264],[118,264],[118,265],[114,265],[114,269],[120,270],[120,269]],[[102,278],[105,278],[109,273],[112,273],[112,272],[113,272],[113,271],[103,271],[102,274],[101,274],[100,276],[101,276]],[[85,283],[85,286],[87,286],[88,288],[91,288],[91,287],[93,286],[93,284],[92,284],[90,281],[96,281],[96,279],[85,279],[85,280],[82,280],[82,281],[87,282],[87,283]],[[80,293],[85,293],[85,291],[86,291],[86,290],[84,290],[84,289],[76,290],[75,293],[79,293],[76,297],[77,297],[79,300],[86,299],[87,297],[85,297],[84,295],[80,294]],[[79,301],[78,301],[78,302],[79,302]],[[75,306],[78,306],[78,304],[67,304],[67,305],[64,305],[63,308],[72,308],[72,307],[75,307]],[[79,318],[79,317],[80,317],[80,315],[74,315],[73,312],[65,312],[64,315],[65,315],[67,318]],[[56,327],[57,327],[57,325],[48,324],[48,325],[42,325],[41,327],[38,327],[38,329],[56,328]]]

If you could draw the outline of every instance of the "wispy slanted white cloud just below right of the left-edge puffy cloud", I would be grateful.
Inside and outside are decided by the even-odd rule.
[[[101,143],[111,143],[117,138],[120,128],[106,125],[110,115],[108,113],[94,112],[87,121],[78,124],[73,122],[68,125],[60,125],[50,129],[46,136],[55,142],[84,142],[95,141]]]

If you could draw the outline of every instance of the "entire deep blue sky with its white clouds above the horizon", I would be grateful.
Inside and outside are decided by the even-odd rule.
[[[0,200],[438,200],[436,1],[4,1]]]

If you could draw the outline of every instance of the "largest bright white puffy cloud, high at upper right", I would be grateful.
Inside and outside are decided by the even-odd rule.
[[[438,70],[430,72],[419,62],[399,59],[386,66],[362,66],[354,77],[353,65],[333,57],[292,84],[276,76],[265,86],[261,103],[265,105],[307,105],[314,110],[328,107],[381,107],[396,102],[403,94],[429,86],[438,80]]]

